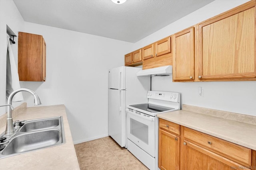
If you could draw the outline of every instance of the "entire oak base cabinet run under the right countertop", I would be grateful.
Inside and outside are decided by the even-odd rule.
[[[256,170],[256,150],[159,119],[161,170]]]

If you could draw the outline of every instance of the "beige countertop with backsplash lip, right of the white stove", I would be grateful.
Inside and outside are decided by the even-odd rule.
[[[157,117],[256,150],[256,116],[183,105]]]

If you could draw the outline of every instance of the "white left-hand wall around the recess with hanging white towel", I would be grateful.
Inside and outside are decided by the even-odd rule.
[[[0,105],[6,104],[6,25],[18,35],[22,29],[24,20],[20,15],[16,5],[12,0],[0,0]],[[18,39],[14,37],[15,44],[12,44],[12,51],[16,59],[18,56]],[[18,106],[22,102],[14,102],[13,106]],[[0,115],[6,113],[6,107],[0,107]]]

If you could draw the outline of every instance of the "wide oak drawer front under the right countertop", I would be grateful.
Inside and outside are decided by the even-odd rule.
[[[202,147],[212,150],[216,154],[220,154],[231,160],[238,160],[246,165],[251,165],[251,149],[189,129],[187,127],[184,127],[184,138],[188,141],[194,141],[202,145]]]

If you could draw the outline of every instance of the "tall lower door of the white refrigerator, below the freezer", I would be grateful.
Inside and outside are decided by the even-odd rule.
[[[125,90],[108,90],[108,134],[121,146],[126,142]]]

